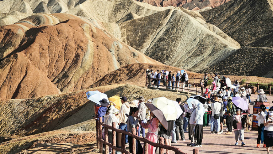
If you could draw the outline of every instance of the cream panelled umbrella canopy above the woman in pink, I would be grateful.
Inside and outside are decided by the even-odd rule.
[[[154,98],[152,104],[163,112],[167,121],[176,120],[177,109],[173,100],[169,100],[166,97]]]

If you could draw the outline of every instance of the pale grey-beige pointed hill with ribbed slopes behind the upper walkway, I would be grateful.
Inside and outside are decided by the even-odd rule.
[[[163,64],[198,71],[240,48],[200,17],[177,8],[119,23],[122,41]]]

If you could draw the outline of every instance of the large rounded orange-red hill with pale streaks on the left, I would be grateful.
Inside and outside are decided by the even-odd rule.
[[[3,46],[14,46],[0,51],[0,98],[21,99],[86,89],[121,66],[161,64],[82,19],[34,25],[29,22],[0,27],[0,32],[24,33],[2,36],[1,41],[8,40],[3,41]]]

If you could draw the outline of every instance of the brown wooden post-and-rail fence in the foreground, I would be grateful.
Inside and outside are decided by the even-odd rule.
[[[113,122],[112,126],[106,125],[102,123],[102,117],[99,118],[99,121],[96,121],[97,126],[97,146],[99,149],[99,153],[103,153],[103,144],[105,145],[104,153],[109,154],[109,147],[112,148],[112,154],[115,154],[115,151],[120,151],[122,154],[131,154],[129,151],[125,150],[125,135],[132,137],[132,154],[136,154],[136,140],[142,141],[144,143],[143,150],[144,154],[148,154],[148,144],[154,147],[159,147],[159,153],[163,154],[164,149],[168,149],[171,151],[174,151],[175,154],[187,154],[185,152],[182,152],[177,147],[174,146],[168,146],[164,144],[163,137],[159,138],[159,143],[154,143],[152,141],[149,141],[147,138],[136,136],[136,129],[132,128],[132,133],[116,129],[115,123]],[[105,141],[102,138],[102,127],[104,127],[104,135],[105,135]],[[112,143],[108,142],[108,129],[111,129],[113,132],[113,141]],[[121,148],[116,146],[116,132],[121,133]],[[193,149],[193,154],[198,154],[198,149]]]

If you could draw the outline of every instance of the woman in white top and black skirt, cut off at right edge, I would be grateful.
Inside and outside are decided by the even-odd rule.
[[[269,154],[270,147],[273,149],[273,109],[268,110],[268,115],[264,120],[264,137],[265,137],[265,147],[267,154]]]

